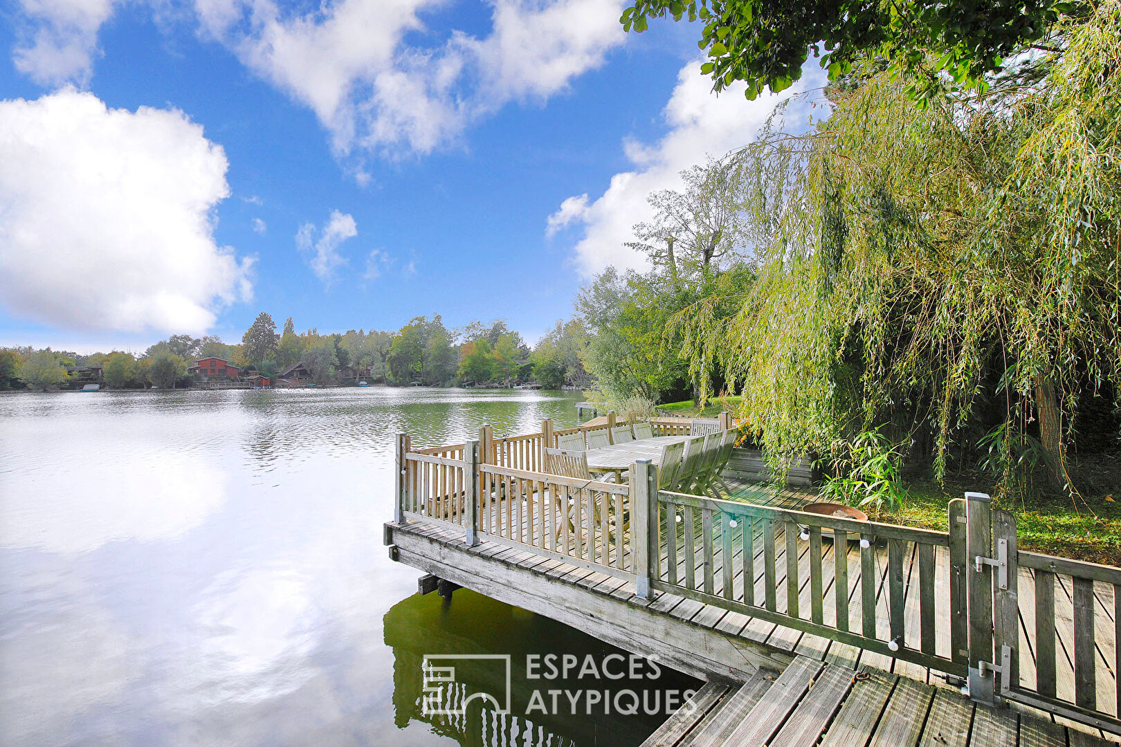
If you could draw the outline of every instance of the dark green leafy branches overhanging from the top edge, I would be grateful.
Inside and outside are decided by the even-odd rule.
[[[645,31],[649,19],[700,20],[708,60],[702,74],[723,91],[747,83],[748,99],[765,87],[782,91],[802,77],[808,54],[821,56],[830,80],[886,60],[892,73],[914,74],[912,94],[929,95],[941,73],[970,88],[1025,44],[1044,39],[1060,11],[1080,2],[1054,0],[632,0],[620,21]]]

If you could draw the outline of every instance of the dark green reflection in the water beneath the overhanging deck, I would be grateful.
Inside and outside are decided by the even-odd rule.
[[[385,634],[386,645],[393,650],[395,723],[406,727],[410,721],[423,721],[438,734],[472,747],[639,745],[666,719],[667,693],[700,687],[688,676],[638,662],[634,672],[640,679],[606,676],[601,669],[604,660],[613,656],[608,669],[619,675],[628,672],[629,654],[465,589],[456,591],[452,600],[430,594],[399,601],[386,614]],[[541,659],[534,660],[536,676],[528,676],[527,656],[550,652],[574,657],[568,676],[549,676]],[[463,709],[456,707],[474,693],[490,693],[501,700],[506,672],[502,662],[455,656],[495,653],[511,657],[509,713],[497,712],[493,704],[475,699],[465,713],[428,715],[432,703],[428,710],[423,707],[425,656],[454,665],[455,682],[441,692],[443,708],[438,710],[460,711]],[[441,660],[441,654],[451,659]],[[553,673],[563,666],[558,659]],[[585,669],[584,676],[578,676],[581,669]],[[633,699],[630,691],[634,692]],[[595,694],[589,698],[590,692]],[[622,704],[628,711],[637,704],[638,712],[605,718],[604,711],[614,708],[611,703]]]

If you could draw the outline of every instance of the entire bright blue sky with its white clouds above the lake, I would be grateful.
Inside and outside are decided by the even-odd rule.
[[[628,36],[621,7],[15,3],[0,345],[237,342],[260,310],[536,338],[591,274],[641,263],[646,194],[773,105],[708,93],[697,29]]]

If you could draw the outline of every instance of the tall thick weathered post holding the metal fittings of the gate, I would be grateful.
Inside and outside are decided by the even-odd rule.
[[[965,548],[969,564],[970,698],[983,703],[995,699],[993,673],[982,662],[995,663],[992,648],[992,502],[984,493],[965,494]],[[982,559],[982,560],[979,560]]]

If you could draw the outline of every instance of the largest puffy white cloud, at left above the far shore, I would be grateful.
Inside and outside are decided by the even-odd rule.
[[[200,334],[248,300],[251,261],[214,242],[221,146],[178,110],[64,88],[0,102],[0,299],[67,328]]]

